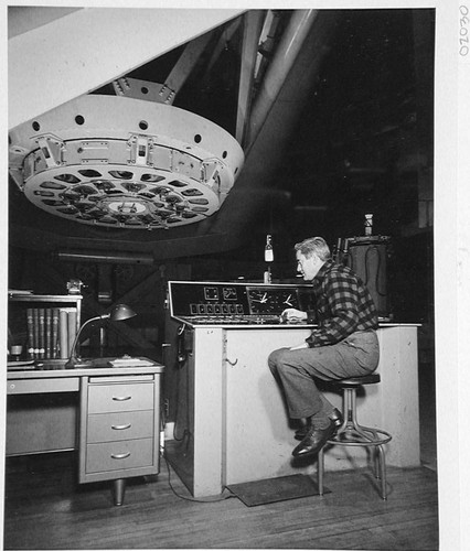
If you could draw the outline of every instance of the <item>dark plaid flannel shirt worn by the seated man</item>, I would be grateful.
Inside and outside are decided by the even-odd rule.
[[[332,345],[355,331],[378,327],[374,301],[350,268],[327,260],[312,287],[317,305],[314,312],[308,312],[308,322],[318,327],[306,339],[310,347]]]

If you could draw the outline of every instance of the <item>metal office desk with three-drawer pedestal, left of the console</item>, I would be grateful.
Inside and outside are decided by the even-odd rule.
[[[77,450],[78,482],[125,479],[160,469],[163,366],[8,371],[7,455]]]

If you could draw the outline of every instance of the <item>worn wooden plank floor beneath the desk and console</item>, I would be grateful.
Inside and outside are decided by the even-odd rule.
[[[115,507],[109,483],[77,486],[74,467],[71,453],[8,460],[4,549],[438,549],[437,474],[427,467],[389,467],[387,501],[366,469],[327,473],[323,497],[257,507],[183,499],[164,461]]]

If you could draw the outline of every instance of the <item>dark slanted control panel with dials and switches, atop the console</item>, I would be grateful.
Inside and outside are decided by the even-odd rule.
[[[288,307],[313,310],[309,285],[169,282],[170,313],[191,323],[280,323]]]

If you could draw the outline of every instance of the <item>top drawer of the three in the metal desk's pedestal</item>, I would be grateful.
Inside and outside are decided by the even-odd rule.
[[[88,413],[152,409],[153,382],[88,386]]]

